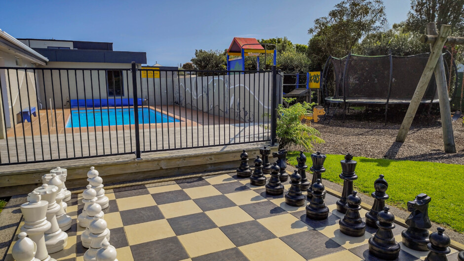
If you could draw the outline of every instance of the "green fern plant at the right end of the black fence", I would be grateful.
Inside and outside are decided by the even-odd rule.
[[[301,123],[301,119],[307,113],[312,112],[315,103],[295,103],[289,105],[296,98],[283,98],[284,106],[277,106],[277,128],[275,133],[279,140],[279,149],[287,148],[290,145],[304,147],[308,152],[312,152],[314,143],[324,143],[320,137],[320,132],[310,126]]]

